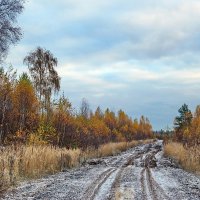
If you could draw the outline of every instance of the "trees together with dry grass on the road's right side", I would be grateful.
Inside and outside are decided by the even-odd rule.
[[[163,134],[164,153],[184,169],[200,174],[200,106],[194,114],[184,104],[174,120],[174,131]]]

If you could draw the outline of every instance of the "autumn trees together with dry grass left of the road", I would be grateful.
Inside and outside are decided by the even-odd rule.
[[[0,68],[0,191],[20,180],[115,155],[153,138],[150,121],[123,110],[79,109],[60,91],[57,59],[36,48],[24,59],[29,73]],[[56,98],[58,96],[58,98]],[[55,98],[53,98],[55,97]]]

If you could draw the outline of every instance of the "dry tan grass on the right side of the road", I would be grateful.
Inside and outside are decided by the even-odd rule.
[[[164,146],[164,153],[184,169],[200,173],[200,146],[186,148],[181,143],[171,142]]]

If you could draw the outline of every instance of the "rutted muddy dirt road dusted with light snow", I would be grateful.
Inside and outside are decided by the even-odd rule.
[[[25,182],[1,199],[200,200],[200,177],[163,157],[162,142]]]

